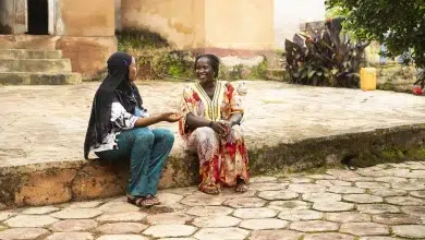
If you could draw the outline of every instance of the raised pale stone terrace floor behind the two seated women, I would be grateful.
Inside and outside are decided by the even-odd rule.
[[[138,83],[150,113],[178,110],[187,83]],[[0,87],[0,167],[82,160],[99,83]],[[392,92],[247,82],[243,123],[248,147],[424,123],[425,97]],[[178,124],[158,124],[178,132]],[[179,151],[177,137],[173,152]],[[171,154],[173,154],[173,152]]]

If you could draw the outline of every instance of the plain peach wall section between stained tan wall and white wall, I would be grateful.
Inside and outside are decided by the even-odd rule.
[[[207,0],[205,32],[206,47],[271,49],[274,0]]]

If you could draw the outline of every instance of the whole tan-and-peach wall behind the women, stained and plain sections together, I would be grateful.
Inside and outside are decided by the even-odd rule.
[[[270,49],[274,0],[121,0],[122,28],[160,34],[177,48]]]

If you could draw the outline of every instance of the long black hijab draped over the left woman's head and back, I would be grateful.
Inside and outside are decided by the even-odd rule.
[[[116,52],[108,59],[108,76],[100,84],[93,100],[84,142],[84,158],[88,159],[90,147],[100,144],[112,130],[112,101],[119,101],[127,112],[135,107],[142,109],[142,97],[137,87],[129,80],[129,67],[133,58],[125,52]]]

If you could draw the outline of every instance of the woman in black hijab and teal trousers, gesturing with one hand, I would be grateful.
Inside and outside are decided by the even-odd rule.
[[[157,187],[174,135],[166,129],[147,127],[160,121],[177,122],[181,117],[174,112],[149,117],[133,83],[136,72],[135,60],[130,55],[116,52],[109,58],[108,76],[93,101],[84,157],[88,159],[93,151],[101,159],[130,158],[127,201],[148,207],[160,204]]]

